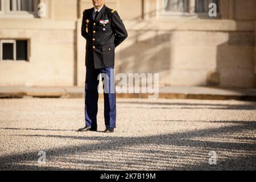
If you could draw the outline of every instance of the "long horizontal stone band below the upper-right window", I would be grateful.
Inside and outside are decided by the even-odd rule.
[[[222,19],[159,19],[125,20],[128,30],[134,31],[254,31],[254,21]]]

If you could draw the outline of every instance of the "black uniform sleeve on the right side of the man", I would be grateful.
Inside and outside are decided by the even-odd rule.
[[[115,47],[117,47],[128,36],[125,25],[123,24],[117,11],[114,11],[112,14],[112,30],[115,34]]]

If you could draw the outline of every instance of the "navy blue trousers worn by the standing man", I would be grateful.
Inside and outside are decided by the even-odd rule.
[[[116,97],[115,89],[113,88],[114,78],[111,75],[111,70],[114,72],[114,67],[93,69],[86,67],[85,79],[85,125],[87,127],[97,128],[97,113],[98,113],[98,76],[100,73],[108,75],[108,84],[104,84],[104,118],[106,128],[115,128],[116,118]],[[104,81],[102,76],[102,81]],[[108,88],[106,88],[106,86]],[[108,92],[105,92],[108,90]],[[114,91],[114,92],[113,92]]]

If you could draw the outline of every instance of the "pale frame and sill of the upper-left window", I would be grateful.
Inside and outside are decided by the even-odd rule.
[[[10,11],[11,0],[0,0],[2,2],[2,10],[0,11],[0,18],[39,18],[38,4],[40,0],[34,1],[34,11]]]

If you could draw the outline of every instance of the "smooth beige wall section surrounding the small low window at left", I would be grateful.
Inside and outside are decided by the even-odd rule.
[[[26,27],[26,22],[23,24]],[[1,61],[1,86],[73,85],[76,51],[73,30],[3,29],[0,34],[2,38],[28,39],[29,62]]]

